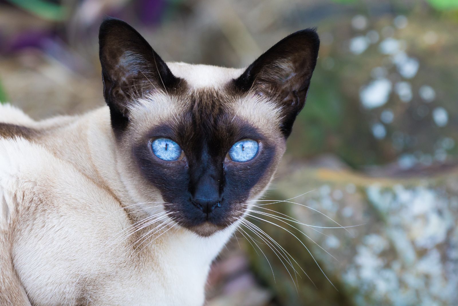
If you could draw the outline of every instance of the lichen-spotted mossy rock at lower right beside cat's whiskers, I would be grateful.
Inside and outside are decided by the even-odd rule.
[[[279,213],[284,213],[303,224],[337,228],[288,222],[294,230],[278,219],[251,213],[288,228],[300,242],[278,226],[248,220],[284,247],[315,284],[290,259],[296,279],[283,258],[290,275],[267,243],[245,229],[270,262],[247,243],[252,268],[281,305],[458,305],[457,181],[457,170],[428,179],[390,179],[296,167],[266,198],[289,199],[310,191],[290,200],[300,205],[278,202],[256,210],[273,209],[280,220],[286,217]],[[362,225],[342,229],[338,224]]]

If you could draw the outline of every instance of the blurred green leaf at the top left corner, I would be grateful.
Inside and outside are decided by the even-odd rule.
[[[65,20],[65,7],[44,0],[8,0],[12,4],[40,18],[51,21]]]

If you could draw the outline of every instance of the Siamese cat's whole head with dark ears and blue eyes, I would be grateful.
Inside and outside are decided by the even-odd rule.
[[[102,23],[99,44],[131,196],[202,236],[240,219],[267,188],[304,107],[316,32],[289,35],[246,69],[166,64],[116,19]]]

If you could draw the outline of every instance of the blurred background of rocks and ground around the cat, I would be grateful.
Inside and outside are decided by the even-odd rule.
[[[318,27],[288,152],[208,306],[458,305],[457,0],[0,0],[0,101],[34,119],[104,105],[107,15],[166,61],[229,67]]]

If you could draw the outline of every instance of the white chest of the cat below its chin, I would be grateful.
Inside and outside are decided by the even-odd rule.
[[[93,305],[203,305],[210,264],[232,230],[208,239],[172,230],[153,258],[105,282]]]

